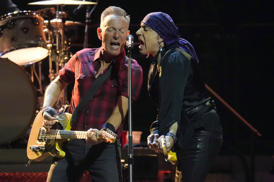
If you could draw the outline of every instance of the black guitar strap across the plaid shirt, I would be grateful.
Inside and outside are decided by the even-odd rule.
[[[126,60],[126,56],[124,57],[123,62]],[[112,70],[112,64],[110,64],[110,67],[108,71],[106,71],[105,74],[98,76],[96,80],[93,82],[93,84],[90,86],[84,97],[79,102],[78,106],[75,107],[71,121],[72,123],[76,123],[80,115],[82,114],[84,108],[87,106],[88,102],[93,98],[93,96],[96,94],[97,90],[100,88],[100,86],[104,83],[106,78],[110,76]]]

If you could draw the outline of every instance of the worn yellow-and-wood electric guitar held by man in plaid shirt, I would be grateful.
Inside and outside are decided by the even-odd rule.
[[[62,144],[70,138],[85,139],[87,131],[70,131],[72,114],[63,113],[51,129],[43,127],[43,116],[40,111],[33,122],[27,145],[27,156],[30,160],[41,161],[48,156],[65,157]],[[103,138],[104,142],[115,142],[117,135],[110,130],[96,132],[96,138]]]

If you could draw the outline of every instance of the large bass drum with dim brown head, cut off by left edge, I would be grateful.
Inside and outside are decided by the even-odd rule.
[[[34,120],[37,110],[35,87],[25,70],[0,58],[0,145],[20,138]]]

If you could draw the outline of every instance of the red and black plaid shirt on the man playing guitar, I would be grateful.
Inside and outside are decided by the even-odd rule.
[[[65,67],[59,71],[60,78],[67,82],[73,83],[72,98],[70,102],[70,113],[79,104],[80,100],[86,94],[88,88],[95,81],[95,75],[100,69],[100,53],[102,47],[96,49],[83,49],[74,54]],[[90,128],[101,129],[106,123],[114,107],[118,96],[128,98],[128,60],[124,61],[125,51],[112,60],[112,67],[116,73],[104,81],[98,89],[93,99],[88,103],[86,109],[82,112],[72,130],[87,131]],[[106,68],[99,76],[106,73]],[[137,61],[132,59],[132,101],[134,102],[139,95],[143,80],[143,72]],[[124,119],[118,127],[116,134],[122,135]]]

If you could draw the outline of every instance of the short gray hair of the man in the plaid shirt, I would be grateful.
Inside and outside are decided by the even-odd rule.
[[[106,16],[108,15],[116,15],[116,16],[123,16],[126,18],[126,22],[129,24],[130,23],[130,16],[127,15],[126,11],[123,10],[120,7],[116,7],[116,6],[110,6],[107,9],[105,9],[102,14],[101,14],[101,24],[100,27],[102,25],[102,22],[104,21],[104,19],[106,18]]]

